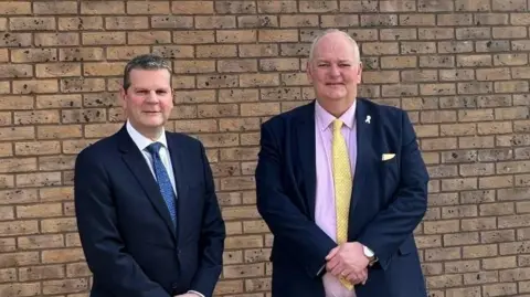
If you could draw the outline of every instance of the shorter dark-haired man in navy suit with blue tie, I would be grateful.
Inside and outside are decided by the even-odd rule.
[[[156,55],[125,67],[127,116],[75,163],[75,211],[92,297],[209,297],[225,226],[202,144],[165,131],[171,67]]]

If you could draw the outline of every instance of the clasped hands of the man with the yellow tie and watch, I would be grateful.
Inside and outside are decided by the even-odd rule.
[[[340,244],[326,256],[326,271],[336,277],[344,277],[353,285],[364,285],[368,279],[369,259],[363,245],[358,242]]]

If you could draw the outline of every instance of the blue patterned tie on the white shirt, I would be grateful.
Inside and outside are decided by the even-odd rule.
[[[173,192],[173,187],[171,185],[171,180],[169,179],[168,171],[160,159],[160,148],[162,144],[152,142],[147,147],[147,151],[152,156],[152,168],[155,170],[155,176],[157,176],[158,187],[162,193],[166,205],[168,206],[169,214],[171,215],[171,221],[173,225],[177,225],[177,208],[176,208],[176,194]]]

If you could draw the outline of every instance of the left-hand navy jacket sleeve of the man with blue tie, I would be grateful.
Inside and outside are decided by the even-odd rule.
[[[120,237],[109,177],[99,158],[82,151],[75,162],[74,201],[86,262],[114,296],[170,297],[127,254]]]

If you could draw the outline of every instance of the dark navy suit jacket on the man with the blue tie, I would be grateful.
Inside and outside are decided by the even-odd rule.
[[[75,211],[94,275],[92,297],[211,296],[222,271],[225,227],[198,140],[167,132],[178,190],[173,227],[146,159],[125,126],[75,163]]]

